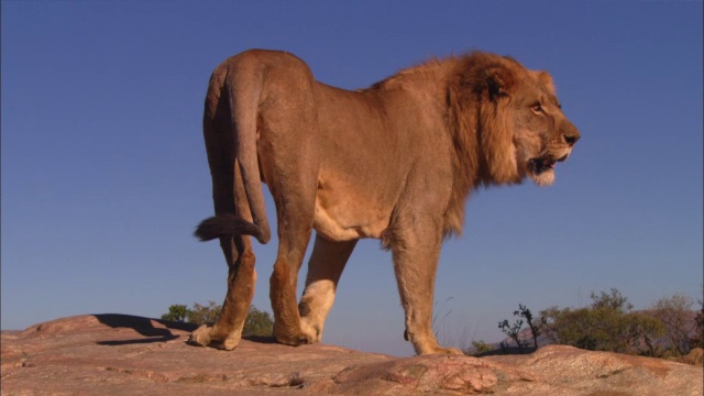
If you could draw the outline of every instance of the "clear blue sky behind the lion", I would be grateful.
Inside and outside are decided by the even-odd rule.
[[[212,69],[251,47],[349,89],[471,50],[552,74],[582,140],[554,186],[470,199],[440,258],[442,343],[498,341],[519,302],[578,307],[610,287],[636,308],[701,298],[702,14],[701,1],[3,0],[2,329],[222,301],[219,245],[191,237],[212,213],[202,103]],[[260,309],[275,246],[255,246]],[[408,355],[403,331],[391,255],[362,241],[323,341]]]

